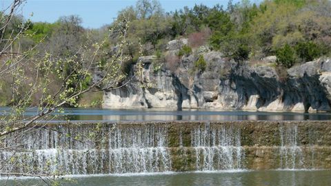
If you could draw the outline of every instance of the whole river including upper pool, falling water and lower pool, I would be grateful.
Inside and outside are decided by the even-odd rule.
[[[26,116],[32,116],[36,110],[31,109],[26,112]],[[0,108],[0,117],[5,117],[8,114],[8,107]],[[2,115],[2,116],[1,116]],[[106,148],[108,145],[98,146],[74,146],[75,143],[68,143],[66,136],[57,136],[57,132],[53,130],[37,131],[40,140],[44,144],[34,144],[26,147],[27,152],[19,152],[17,154],[3,153],[1,155],[4,160],[10,159],[13,161],[12,165],[6,167],[11,170],[34,169],[35,165],[43,167],[45,170],[63,169],[65,167],[68,174],[80,174],[74,176],[63,176],[56,180],[61,185],[68,186],[85,186],[85,185],[331,185],[331,170],[330,169],[314,169],[315,166],[323,167],[323,165],[314,165],[314,163],[321,164],[321,162],[328,161],[328,155],[323,155],[329,152],[328,141],[326,140],[328,134],[324,134],[323,130],[319,130],[318,126],[323,127],[323,123],[331,120],[330,112],[317,113],[295,113],[295,112],[246,112],[246,111],[214,111],[214,110],[101,110],[101,109],[65,109],[64,112],[54,112],[57,116],[54,121],[61,123],[62,121],[206,121],[205,124],[191,123],[197,125],[188,129],[186,126],[183,134],[181,130],[170,131],[173,126],[184,125],[183,122],[177,122],[172,127],[164,128],[166,125],[132,125],[126,128],[124,125],[121,128],[117,125],[117,130],[114,134],[109,134],[108,141],[105,144],[113,145],[110,149]],[[274,154],[278,155],[274,158],[279,158],[279,165],[281,169],[269,169],[265,171],[251,170],[241,163],[248,165],[257,164],[256,160],[261,161],[272,159],[265,155],[266,152],[252,152],[257,146],[252,145],[251,149],[246,149],[246,152],[238,151],[243,147],[248,147],[254,136],[250,136],[250,129],[241,128],[238,125],[222,124],[210,125],[207,121],[252,121],[256,127],[254,131],[263,129],[263,123],[257,124],[257,121],[291,121],[288,124],[280,124],[273,122],[270,126],[274,127],[274,133],[267,132],[268,127],[263,131],[263,138],[259,140],[261,150],[265,151],[274,148]],[[291,124],[292,121],[321,121],[315,124],[309,124],[310,131],[306,131],[305,124]],[[184,122],[186,123],[186,122]],[[235,122],[236,123],[236,122]],[[91,124],[91,126],[93,126]],[[57,123],[56,123],[57,125]],[[168,124],[167,124],[168,125]],[[172,125],[172,124],[169,124]],[[326,125],[326,124],[325,124]],[[247,125],[249,126],[249,125]],[[307,125],[308,126],[308,125]],[[314,127],[312,127],[314,126]],[[63,125],[61,130],[66,131],[66,127],[70,125]],[[79,134],[87,134],[90,130],[86,125],[80,126],[81,129],[75,129]],[[86,127],[86,128],[85,128]],[[109,126],[108,126],[109,127]],[[316,128],[315,128],[316,127]],[[180,128],[180,127],[179,127]],[[324,128],[323,128],[324,129]],[[105,126],[104,130],[108,130]],[[252,129],[253,130],[253,129]],[[204,169],[205,171],[198,172],[171,172],[170,165],[176,166],[174,161],[176,155],[170,157],[170,132],[178,135],[179,141],[177,146],[173,149],[188,149],[188,155],[192,156],[188,163],[192,164],[193,169]],[[301,133],[300,133],[301,132]],[[302,133],[303,132],[303,133]],[[23,141],[30,141],[34,133],[29,134]],[[257,133],[257,134],[260,134]],[[307,133],[307,134],[305,134]],[[325,136],[323,146],[319,141],[319,134]],[[121,136],[120,134],[123,134]],[[124,135],[126,134],[126,135]],[[268,135],[267,135],[268,134]],[[182,136],[183,135],[183,136]],[[186,137],[184,136],[186,135]],[[243,137],[241,137],[241,135]],[[245,136],[248,135],[248,136]],[[267,135],[267,136],[265,136]],[[219,136],[216,138],[216,136]],[[302,141],[300,136],[309,136],[309,143],[312,146],[305,146],[307,141]],[[58,141],[54,139],[57,138]],[[169,139],[168,139],[169,138]],[[189,143],[182,141],[186,139]],[[263,141],[266,146],[271,143],[274,138],[277,141],[270,144],[270,147],[264,148]],[[155,141],[154,143],[151,143]],[[66,144],[70,144],[68,147]],[[213,143],[215,144],[213,144]],[[182,144],[183,143],[183,144]],[[188,147],[185,147],[185,144]],[[30,143],[29,143],[30,144]],[[32,143],[31,143],[32,144]],[[176,145],[174,144],[174,145]],[[254,144],[254,143],[253,143]],[[317,149],[312,150],[312,154],[305,152],[305,150],[312,149],[314,146]],[[302,145],[302,146],[300,146]],[[318,145],[322,145],[319,147]],[[54,146],[54,147],[53,147]],[[184,147],[183,147],[184,146]],[[191,147],[192,146],[192,147]],[[59,148],[58,148],[59,147]],[[307,148],[309,147],[309,148]],[[37,149],[35,152],[34,150]],[[57,149],[61,149],[58,151]],[[319,152],[319,149],[322,151]],[[323,152],[323,150],[326,150]],[[172,154],[177,151],[172,150]],[[190,150],[192,152],[190,152]],[[30,152],[31,151],[31,152]],[[269,153],[270,153],[269,152]],[[100,153],[100,154],[98,154]],[[178,152],[179,153],[179,152]],[[138,158],[137,160],[132,155]],[[181,154],[181,153],[179,153]],[[254,154],[258,154],[258,158]],[[139,155],[139,156],[138,156]],[[307,155],[307,156],[306,156]],[[319,155],[319,156],[318,156]],[[17,156],[17,158],[12,158]],[[324,157],[325,156],[325,157]],[[331,155],[330,155],[331,156]],[[24,158],[23,158],[24,157]],[[119,158],[120,157],[120,158]],[[324,158],[323,161],[321,158]],[[110,159],[113,158],[113,159]],[[159,159],[159,161],[155,160]],[[254,161],[253,161],[254,160]],[[24,163],[23,161],[27,161]],[[54,162],[53,162],[54,161]],[[181,161],[181,160],[177,160]],[[83,162],[82,165],[79,163]],[[193,162],[193,163],[192,163]],[[150,165],[148,164],[150,163]],[[158,164],[159,163],[159,164]],[[221,163],[221,164],[220,164]],[[155,165],[154,165],[155,164]],[[156,165],[158,164],[158,165]],[[169,165],[168,165],[169,164]],[[184,163],[185,164],[185,163]],[[201,165],[200,165],[201,164]],[[267,162],[262,163],[268,164]],[[262,165],[261,164],[261,165]],[[23,166],[24,165],[24,166]],[[40,165],[40,166],[39,166]],[[106,165],[108,169],[103,169]],[[226,165],[226,166],[225,166]],[[239,166],[240,165],[240,166]],[[23,166],[23,167],[22,167]],[[112,166],[112,167],[111,167]],[[146,166],[144,169],[141,166]],[[188,166],[188,164],[186,164]],[[272,165],[268,165],[272,167]],[[76,167],[76,168],[74,168]],[[80,167],[80,168],[77,168]],[[110,168],[111,167],[111,168]],[[253,166],[254,167],[254,166]],[[301,169],[301,167],[308,169]],[[180,167],[179,167],[180,168]],[[289,169],[291,168],[291,169]],[[225,169],[220,171],[210,171],[211,169]],[[94,173],[95,171],[95,173]],[[90,174],[92,172],[93,174]],[[99,174],[101,172],[101,174]],[[112,174],[102,174],[104,172],[114,172]],[[118,174],[119,172],[120,174]],[[137,173],[126,173],[137,172]],[[139,173],[138,173],[139,172]],[[122,174],[123,173],[123,174]],[[0,177],[0,185],[46,185],[40,178],[30,177]]]

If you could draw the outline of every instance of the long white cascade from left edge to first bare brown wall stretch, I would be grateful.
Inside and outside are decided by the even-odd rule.
[[[68,130],[68,128],[63,129]],[[65,133],[68,131],[62,131]],[[89,130],[79,131],[88,136]],[[39,130],[30,134],[25,152],[1,152],[6,163],[1,172],[46,174],[121,174],[167,172],[171,158],[164,127],[117,127],[108,138],[94,143],[77,143],[59,132]],[[65,133],[68,134],[68,133]],[[33,143],[38,136],[38,141]],[[108,143],[106,143],[108,141]],[[99,145],[97,143],[100,143]],[[4,163],[3,163],[4,164]]]

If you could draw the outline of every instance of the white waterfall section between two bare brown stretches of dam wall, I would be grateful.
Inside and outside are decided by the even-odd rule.
[[[192,131],[192,147],[195,151],[196,169],[220,170],[241,169],[244,158],[240,141],[240,130],[232,126],[196,127]]]

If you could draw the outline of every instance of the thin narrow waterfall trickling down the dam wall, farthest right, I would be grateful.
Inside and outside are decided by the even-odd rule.
[[[298,145],[298,126],[279,127],[281,137],[280,167],[282,169],[298,169],[303,166],[302,149]]]

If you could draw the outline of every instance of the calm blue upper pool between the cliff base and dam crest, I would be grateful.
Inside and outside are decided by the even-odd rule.
[[[0,107],[0,116],[8,115],[8,107]],[[31,109],[26,116],[32,116],[37,110]],[[305,121],[331,120],[331,112],[246,112],[215,110],[103,110],[103,109],[65,109],[64,113],[54,112],[58,121]]]

